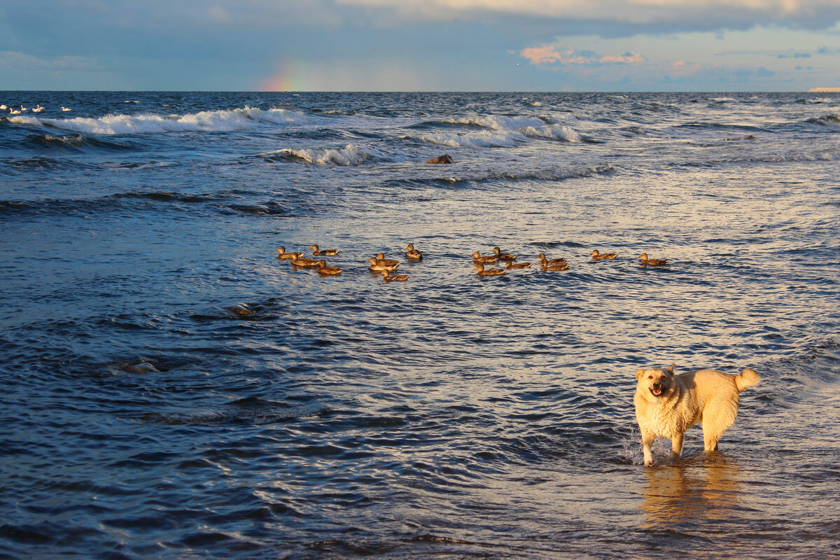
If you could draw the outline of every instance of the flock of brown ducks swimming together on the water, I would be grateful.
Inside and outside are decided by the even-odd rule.
[[[276,249],[275,253],[277,254],[278,259],[288,260],[293,268],[314,269],[318,272],[319,275],[322,276],[336,276],[340,275],[344,271],[343,269],[337,266],[327,266],[326,259],[318,258],[325,256],[335,256],[339,254],[339,249],[319,249],[318,245],[312,245],[311,247],[309,247],[308,250],[311,250],[312,256],[316,258],[308,258],[303,252],[287,252],[285,247]],[[423,253],[421,253],[417,249],[414,249],[413,244],[409,244],[404,250],[406,251],[406,259],[410,261],[423,260]],[[505,275],[508,270],[529,269],[531,268],[532,264],[529,262],[517,262],[517,255],[502,253],[501,249],[499,249],[498,247],[494,247],[493,252],[491,254],[480,254],[480,252],[475,251],[475,253],[473,253],[471,256],[473,258],[473,264],[475,265],[475,268],[472,271],[475,271],[476,275],[480,277],[501,276]],[[615,259],[618,256],[618,254],[602,254],[598,251],[598,249],[595,249],[591,252],[589,256],[593,261],[599,261]],[[668,261],[664,259],[648,259],[647,253],[640,254],[638,258],[642,260],[643,268],[647,266],[665,266],[668,264]],[[569,263],[566,261],[566,259],[549,259],[543,253],[538,254],[537,259],[537,264],[545,272],[569,270]],[[408,280],[407,275],[391,275],[391,273],[395,271],[401,263],[396,259],[386,259],[385,254],[383,253],[376,254],[375,257],[370,257],[370,259],[367,259],[365,263],[370,263],[368,269],[375,274],[382,275],[383,280],[385,280],[386,282],[404,282]],[[486,268],[486,264],[501,263],[505,264],[505,268]]]

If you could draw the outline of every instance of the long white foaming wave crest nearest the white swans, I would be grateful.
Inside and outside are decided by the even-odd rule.
[[[263,110],[244,107],[224,111],[201,111],[186,115],[106,115],[99,118],[10,118],[10,123],[50,126],[86,134],[138,134],[170,132],[235,132],[267,124],[309,123],[307,115],[287,109]]]

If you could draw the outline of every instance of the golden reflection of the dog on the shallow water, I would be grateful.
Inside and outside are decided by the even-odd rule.
[[[642,502],[648,516],[645,529],[662,530],[663,523],[673,526],[738,515],[740,468],[719,451],[645,468],[644,474],[648,479]]]

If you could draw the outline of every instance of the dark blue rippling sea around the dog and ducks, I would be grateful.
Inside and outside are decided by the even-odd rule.
[[[840,557],[836,94],[0,103],[0,557]],[[644,468],[672,362],[762,381]]]

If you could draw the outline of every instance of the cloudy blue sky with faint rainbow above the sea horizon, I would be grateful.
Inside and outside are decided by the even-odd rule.
[[[0,0],[0,90],[840,87],[840,0]]]

